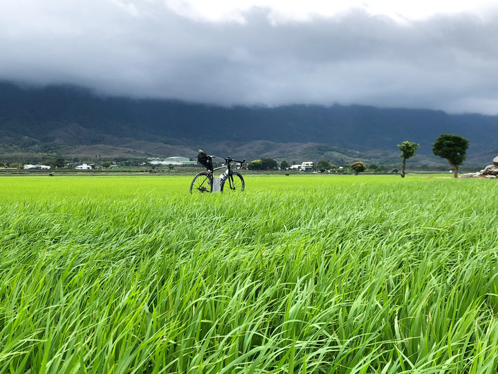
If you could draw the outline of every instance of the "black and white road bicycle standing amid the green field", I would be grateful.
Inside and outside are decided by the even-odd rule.
[[[216,170],[223,169],[224,167],[226,167],[227,170],[223,172],[220,177],[220,192],[222,193],[227,186],[228,188],[226,188],[226,190],[228,191],[243,191],[246,184],[244,183],[242,175],[239,172],[234,172],[232,170],[232,163],[240,163],[239,168],[242,168],[243,164],[246,162],[246,159],[237,161],[228,156],[227,158],[223,158],[225,160],[225,163],[223,163],[222,166],[220,166],[219,168],[213,168],[212,159],[214,158],[216,158],[216,156],[207,155],[205,156],[205,160],[207,161],[202,161],[201,158],[199,158],[199,162],[206,169],[208,169],[208,171],[199,172],[199,174],[197,174],[194,179],[192,179],[192,183],[190,184],[190,193],[193,194],[196,191],[200,193],[212,193],[214,172]]]

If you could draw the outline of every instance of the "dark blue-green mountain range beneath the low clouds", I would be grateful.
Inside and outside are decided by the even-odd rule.
[[[362,105],[219,107],[152,98],[104,97],[72,86],[0,82],[0,160],[195,157],[399,163],[397,145],[420,144],[410,162],[441,165],[440,134],[469,139],[468,165],[498,154],[498,116]]]

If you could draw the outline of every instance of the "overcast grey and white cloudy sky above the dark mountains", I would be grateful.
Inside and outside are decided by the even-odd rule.
[[[0,0],[0,80],[498,114],[497,0]]]

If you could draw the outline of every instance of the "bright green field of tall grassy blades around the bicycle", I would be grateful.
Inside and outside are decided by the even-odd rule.
[[[0,178],[0,374],[496,373],[498,182]]]

